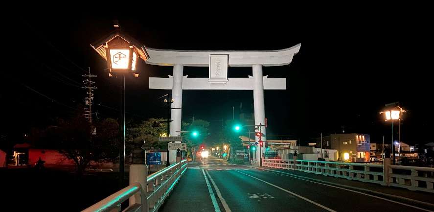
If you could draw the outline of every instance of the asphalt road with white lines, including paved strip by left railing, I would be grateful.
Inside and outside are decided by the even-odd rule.
[[[345,180],[345,179],[343,179]],[[419,208],[420,207],[420,208]],[[161,212],[421,212],[410,206],[217,158],[189,164]]]

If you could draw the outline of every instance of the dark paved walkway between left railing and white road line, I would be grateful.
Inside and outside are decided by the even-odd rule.
[[[190,163],[189,163],[190,164]],[[160,212],[211,212],[214,206],[209,196],[202,169],[187,168],[183,177],[161,206]]]

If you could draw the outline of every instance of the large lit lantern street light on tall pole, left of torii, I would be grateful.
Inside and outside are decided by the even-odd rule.
[[[119,149],[119,177],[122,186],[125,175],[125,75],[132,74],[138,77],[138,58],[146,61],[149,56],[143,47],[134,38],[120,30],[117,21],[114,21],[115,30],[101,40],[91,44],[91,47],[107,61],[109,77],[120,78],[122,83],[120,107],[120,141]]]

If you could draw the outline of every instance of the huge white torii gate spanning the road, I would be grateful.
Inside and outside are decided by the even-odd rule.
[[[270,51],[185,51],[165,50],[144,47],[149,54],[147,64],[173,66],[173,76],[169,78],[149,78],[149,89],[172,90],[173,108],[182,108],[183,90],[253,90],[255,125],[265,123],[264,89],[286,90],[286,78],[263,76],[263,66],[284,66],[291,63],[301,44],[294,47]],[[209,67],[209,78],[188,78],[183,76],[184,66]],[[229,67],[252,67],[249,78],[228,78]],[[181,131],[182,110],[171,111],[170,135]],[[266,134],[265,127],[262,133]],[[267,141],[266,137],[262,139]],[[255,137],[255,141],[258,138]],[[259,151],[256,151],[259,158]],[[262,148],[265,152],[265,148]],[[176,159],[175,151],[170,151],[170,163]]]

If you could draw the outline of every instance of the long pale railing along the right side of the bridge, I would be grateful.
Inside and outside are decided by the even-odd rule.
[[[385,161],[383,165],[304,160],[296,160],[295,163],[294,160],[262,160],[263,166],[267,167],[292,169],[434,193],[434,168],[390,165],[390,160]]]

